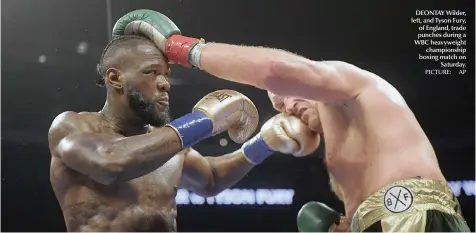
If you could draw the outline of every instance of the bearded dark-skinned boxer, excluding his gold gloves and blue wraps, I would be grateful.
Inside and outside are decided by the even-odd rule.
[[[213,196],[253,167],[239,151],[181,151],[170,127],[166,58],[126,36],[105,49],[100,112],[64,112],[48,134],[51,184],[68,231],[176,231],[177,188]]]

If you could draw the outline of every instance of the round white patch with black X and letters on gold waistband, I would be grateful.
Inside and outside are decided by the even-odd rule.
[[[408,210],[413,204],[413,194],[404,186],[393,186],[383,196],[385,208],[392,213]]]

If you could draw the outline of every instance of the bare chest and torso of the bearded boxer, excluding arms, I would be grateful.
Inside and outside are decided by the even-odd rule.
[[[77,117],[81,132],[122,137],[95,113]],[[175,195],[183,156],[145,176],[108,186],[67,167],[51,153],[50,180],[68,231],[176,231]]]

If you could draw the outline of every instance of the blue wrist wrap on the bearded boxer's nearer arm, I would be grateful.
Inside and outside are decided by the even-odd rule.
[[[182,148],[189,148],[208,138],[213,132],[213,123],[204,113],[195,111],[172,121],[182,140]]]

